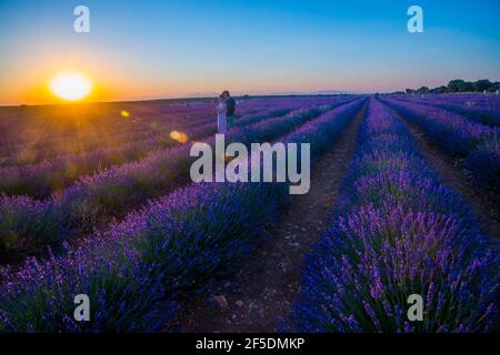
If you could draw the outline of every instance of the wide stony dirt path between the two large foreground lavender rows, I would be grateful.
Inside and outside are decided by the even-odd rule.
[[[198,296],[181,312],[183,332],[277,332],[300,295],[304,254],[319,241],[320,231],[338,197],[338,189],[354,153],[366,106],[344,130],[330,152],[311,172],[311,189],[292,196],[267,231],[267,239],[234,265],[238,272],[216,290]]]

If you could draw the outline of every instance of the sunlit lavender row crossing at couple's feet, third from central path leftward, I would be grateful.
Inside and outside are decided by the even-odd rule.
[[[243,116],[240,116],[237,120],[236,126],[251,124],[268,118],[284,115],[286,113],[307,104],[314,103],[320,105],[321,103],[331,101],[331,98],[318,98],[317,100],[313,100],[312,98],[297,100],[256,100],[254,104],[247,104],[239,110],[240,114]],[[256,112],[259,112],[259,114],[254,115]],[[154,130],[154,134],[144,140],[111,148],[104,144],[102,149],[94,149],[90,152],[79,154],[59,155],[56,159],[44,160],[38,164],[0,168],[0,192],[9,195],[28,194],[34,197],[46,197],[53,191],[67,186],[81,175],[102,171],[110,165],[119,165],[129,161],[142,159],[157,149],[176,145],[178,141],[183,142],[184,140],[201,139],[216,131],[213,113],[210,114],[203,112],[203,114],[200,113],[198,116],[194,115],[194,118],[190,119],[188,122],[181,123],[181,121],[179,121],[179,119],[172,119],[166,126]],[[176,130],[173,131],[176,135],[171,136],[170,133],[172,132],[170,132],[170,130],[173,129],[178,129],[181,132],[179,133]],[[12,159],[17,161],[20,158],[17,156]],[[6,159],[6,161],[10,161],[10,159]]]

